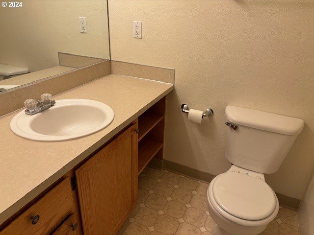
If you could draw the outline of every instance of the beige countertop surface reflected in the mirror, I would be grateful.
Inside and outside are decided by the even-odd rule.
[[[11,77],[0,81],[0,85],[24,85],[46,77],[51,77],[63,72],[75,70],[76,68],[67,66],[55,66],[49,69],[30,72],[16,77]]]

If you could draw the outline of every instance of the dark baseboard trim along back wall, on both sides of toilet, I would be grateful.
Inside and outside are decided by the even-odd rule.
[[[153,159],[149,166],[157,169],[166,169],[169,171],[173,171],[207,183],[209,183],[215,177],[215,175],[211,175],[207,172],[193,169],[182,164],[170,162],[168,160]],[[299,208],[299,205],[301,203],[300,199],[293,198],[278,192],[276,192],[276,195],[281,206],[288,207],[294,210]]]

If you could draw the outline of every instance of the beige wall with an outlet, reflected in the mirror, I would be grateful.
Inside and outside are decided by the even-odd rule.
[[[57,52],[109,58],[106,0],[23,0],[0,7],[0,64],[32,71],[58,65]],[[79,32],[87,18],[88,33]]]

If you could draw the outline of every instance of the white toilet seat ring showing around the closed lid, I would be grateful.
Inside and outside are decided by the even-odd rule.
[[[213,185],[215,184],[215,181],[220,176],[222,176],[224,174],[227,174],[229,172],[230,171],[222,173],[222,174],[216,176],[209,184],[209,188],[207,190],[207,197],[208,197],[209,205],[210,205],[210,207],[212,207],[212,209],[210,209],[210,207],[209,207],[209,209],[210,209],[209,213],[210,212],[218,213],[219,216],[221,216],[221,218],[224,218],[225,222],[229,221],[228,223],[238,224],[238,225],[246,226],[246,227],[265,226],[268,223],[270,223],[276,217],[276,215],[277,215],[277,213],[279,211],[279,202],[278,202],[278,199],[277,199],[275,194],[274,194],[275,201],[276,201],[275,210],[272,211],[272,213],[268,217],[266,217],[264,219],[260,219],[260,220],[247,220],[247,219],[242,219],[242,218],[236,217],[235,215],[228,213],[222,207],[219,206],[219,204],[216,202],[216,199],[215,199],[215,197],[213,195]],[[240,174],[240,173],[237,173],[237,174]],[[256,180],[259,180],[259,179],[256,179]],[[214,210],[214,211],[212,211],[212,210]],[[215,221],[215,222],[218,223],[217,221]]]

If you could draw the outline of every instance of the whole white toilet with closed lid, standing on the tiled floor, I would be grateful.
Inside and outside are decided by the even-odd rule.
[[[264,174],[278,170],[304,121],[235,106],[227,106],[225,115],[225,155],[233,165],[209,184],[213,235],[257,235],[279,210]]]

